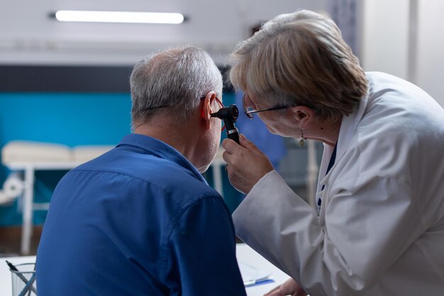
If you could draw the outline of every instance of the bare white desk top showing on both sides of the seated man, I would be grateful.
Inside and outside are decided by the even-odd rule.
[[[270,278],[274,280],[274,283],[246,287],[245,290],[247,291],[248,296],[262,296],[266,292],[272,290],[273,287],[284,283],[284,281],[289,278],[288,275],[282,273],[281,270],[274,267],[274,265],[265,260],[265,258],[253,251],[252,248],[245,245],[245,243],[238,243],[236,253],[239,262],[247,263],[257,269],[271,273]],[[20,263],[34,263],[35,256],[0,258],[0,295],[9,296],[12,295],[11,271],[9,271],[8,265],[6,265],[6,260],[14,265]]]

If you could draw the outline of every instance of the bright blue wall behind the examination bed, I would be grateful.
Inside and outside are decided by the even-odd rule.
[[[234,96],[224,94],[225,104]],[[0,146],[13,140],[78,145],[116,145],[131,132],[130,94],[0,93]],[[0,184],[9,170],[0,167]],[[37,172],[35,201],[48,202],[65,172]],[[211,174],[206,174],[211,176]],[[211,178],[209,178],[211,179]],[[212,180],[209,180],[210,185]],[[225,180],[228,207],[238,203],[237,192]],[[20,225],[19,204],[0,205],[0,226]],[[34,223],[43,224],[46,212],[34,213]]]

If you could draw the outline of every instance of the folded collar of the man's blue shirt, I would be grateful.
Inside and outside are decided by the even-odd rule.
[[[122,141],[118,143],[119,146],[133,146],[146,151],[146,154],[155,155],[159,158],[171,160],[173,163],[182,166],[183,168],[192,172],[197,179],[206,183],[206,180],[201,175],[192,163],[184,157],[179,151],[165,142],[152,138],[150,136],[141,135],[138,133],[131,133],[123,137]],[[207,183],[206,183],[207,184]]]

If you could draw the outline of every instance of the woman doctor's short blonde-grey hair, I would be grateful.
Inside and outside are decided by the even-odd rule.
[[[236,89],[273,106],[309,106],[321,119],[350,114],[367,94],[365,73],[338,26],[313,11],[268,21],[228,64]]]

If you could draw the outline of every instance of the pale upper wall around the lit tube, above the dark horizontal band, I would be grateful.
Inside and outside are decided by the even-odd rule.
[[[131,65],[151,50],[192,43],[219,63],[252,25],[296,9],[326,11],[328,0],[13,0],[1,4],[0,63]],[[60,9],[181,12],[181,25],[61,23]]]

